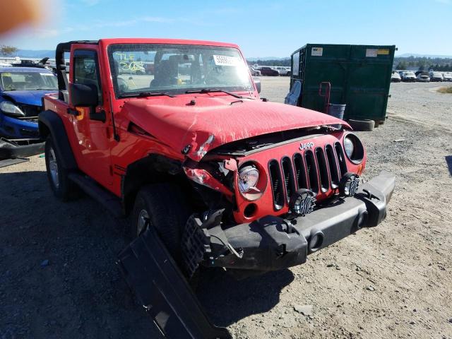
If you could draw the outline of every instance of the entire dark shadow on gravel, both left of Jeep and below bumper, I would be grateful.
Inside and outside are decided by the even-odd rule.
[[[44,171],[0,173],[0,206],[0,338],[160,338],[115,264],[124,222],[89,197],[58,201]],[[205,270],[197,296],[227,326],[275,307],[292,280]]]

